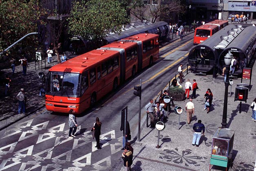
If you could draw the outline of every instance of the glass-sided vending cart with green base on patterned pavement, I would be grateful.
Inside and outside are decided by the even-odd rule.
[[[212,137],[211,165],[227,168],[232,164],[232,151],[235,130],[218,128]]]

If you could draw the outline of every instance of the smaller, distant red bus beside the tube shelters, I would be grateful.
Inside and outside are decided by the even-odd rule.
[[[200,44],[214,33],[228,25],[227,20],[214,20],[196,28],[194,34],[194,45]]]

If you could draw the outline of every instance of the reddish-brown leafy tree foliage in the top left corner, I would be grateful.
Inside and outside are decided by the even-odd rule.
[[[24,35],[37,31],[36,21],[39,16],[38,11],[40,11],[38,10],[38,0],[30,0],[29,2],[0,0],[0,11],[0,52]],[[26,50],[26,55],[30,55],[35,49],[36,41],[37,36],[31,35],[11,48],[8,53],[17,58],[21,55],[19,50],[22,49],[22,51]]]

